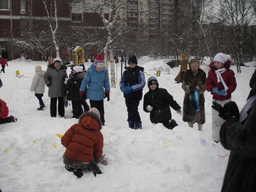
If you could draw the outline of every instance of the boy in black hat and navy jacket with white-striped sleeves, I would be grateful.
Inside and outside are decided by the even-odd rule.
[[[143,67],[139,67],[137,58],[129,56],[128,65],[120,80],[120,89],[124,93],[125,104],[128,112],[128,124],[132,129],[141,129],[141,118],[138,111],[142,90],[145,86],[145,76]]]

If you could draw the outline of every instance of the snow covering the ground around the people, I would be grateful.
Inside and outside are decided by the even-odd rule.
[[[209,60],[205,58],[200,66],[207,73]],[[119,60],[120,61],[120,60]],[[165,88],[182,107],[184,90],[174,79],[180,67],[170,68],[168,60],[152,60],[147,56],[138,60],[145,69],[145,79],[156,76],[156,69],[169,69],[157,77],[160,88]],[[182,116],[171,108],[172,118],[177,127],[166,129],[163,124],[152,124],[149,113],[143,111],[143,99],[139,112],[142,129],[129,128],[127,108],[123,93],[119,88],[121,64],[117,65],[116,88],[110,90],[109,102],[104,99],[105,126],[103,153],[108,164],[99,164],[102,174],[94,177],[92,172],[84,171],[77,179],[65,170],[63,154],[65,147],[56,134],[65,134],[76,119],[72,116],[72,106],[65,108],[66,118],[51,118],[50,98],[45,86],[45,110],[38,111],[38,100],[29,91],[35,66],[47,69],[47,63],[24,60],[8,61],[9,67],[1,74],[3,87],[0,98],[9,108],[9,115],[17,117],[17,122],[0,125],[0,189],[8,191],[220,191],[230,152],[221,143],[211,139],[212,96],[205,92],[206,122],[203,131],[188,127]],[[91,63],[84,63],[89,67]],[[250,92],[249,81],[256,62],[245,63],[237,74],[236,66],[231,66],[237,80],[237,88],[232,100],[241,110]],[[110,66],[110,65],[109,65]],[[116,65],[115,65],[116,66]],[[123,66],[124,67],[124,66]],[[16,77],[19,70],[22,77]],[[68,67],[68,74],[70,73]],[[124,72],[124,69],[123,69]],[[143,95],[148,86],[143,89]],[[88,104],[90,103],[87,100]],[[183,111],[182,111],[183,112]]]

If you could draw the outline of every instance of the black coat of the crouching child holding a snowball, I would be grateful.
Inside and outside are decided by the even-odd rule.
[[[147,110],[147,106],[152,106],[152,111]],[[172,119],[170,106],[176,111],[180,109],[179,104],[173,100],[172,95],[164,88],[150,90],[144,95],[143,110],[150,113],[150,122],[152,124],[162,123]]]

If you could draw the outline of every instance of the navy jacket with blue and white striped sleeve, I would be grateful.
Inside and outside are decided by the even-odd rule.
[[[134,68],[124,67],[124,71],[121,80],[121,86],[131,86],[132,92],[129,94],[124,93],[125,98],[138,98],[142,99],[142,90],[145,86],[145,76],[143,74],[143,67],[136,65]]]

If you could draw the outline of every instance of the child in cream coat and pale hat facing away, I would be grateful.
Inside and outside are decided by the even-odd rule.
[[[45,104],[44,104],[44,101],[42,100],[42,97],[44,97],[44,90],[45,90],[45,83],[44,83],[45,71],[42,70],[42,67],[40,65],[36,65],[35,72],[36,74],[33,77],[30,91],[31,92],[34,91],[36,98],[39,100],[40,107],[37,108],[37,110],[44,111]]]

